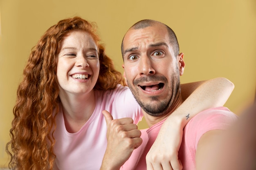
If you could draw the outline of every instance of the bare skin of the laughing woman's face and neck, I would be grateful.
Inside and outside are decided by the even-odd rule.
[[[63,40],[57,64],[59,97],[69,132],[77,132],[92,115],[93,87],[98,76],[99,54],[92,36],[85,31],[71,31]]]

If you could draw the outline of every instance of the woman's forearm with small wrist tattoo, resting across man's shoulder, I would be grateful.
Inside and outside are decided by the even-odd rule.
[[[204,81],[166,121],[176,121],[184,128],[187,122],[202,110],[223,106],[233,89],[234,84],[223,77]]]

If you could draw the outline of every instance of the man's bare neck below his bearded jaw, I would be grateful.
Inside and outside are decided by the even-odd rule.
[[[173,104],[171,105],[170,109],[168,110],[168,112],[166,112],[166,114],[162,115],[162,116],[151,116],[149,114],[147,114],[144,110],[143,110],[143,114],[144,114],[144,118],[148,124],[148,127],[150,128],[151,126],[157,124],[158,122],[164,120],[166,117],[168,117],[169,115],[171,115],[174,110],[176,110],[181,104],[183,103],[182,97],[181,95],[175,100],[175,102],[173,102]]]

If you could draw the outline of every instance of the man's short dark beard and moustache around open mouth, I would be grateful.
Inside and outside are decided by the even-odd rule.
[[[159,96],[149,96],[149,100],[146,99],[146,101],[143,101],[139,96],[139,89],[138,84],[141,82],[150,82],[150,81],[161,81],[164,83],[164,86],[167,86],[168,95],[166,99],[159,99]],[[166,115],[170,112],[170,110],[173,108],[173,102],[176,101],[178,97],[178,91],[180,90],[180,76],[177,75],[177,73],[173,73],[171,75],[171,84],[168,85],[168,81],[164,76],[147,76],[147,77],[141,77],[138,79],[135,79],[133,81],[133,84],[135,88],[131,86],[131,84],[127,81],[128,87],[130,88],[132,95],[135,97],[136,101],[138,102],[139,106],[148,114],[151,116],[162,116]],[[156,104],[152,104],[152,103]]]

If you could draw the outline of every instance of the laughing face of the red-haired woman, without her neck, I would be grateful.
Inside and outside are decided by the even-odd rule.
[[[89,33],[81,30],[68,33],[58,54],[60,95],[90,95],[99,77],[98,53],[98,47]]]

